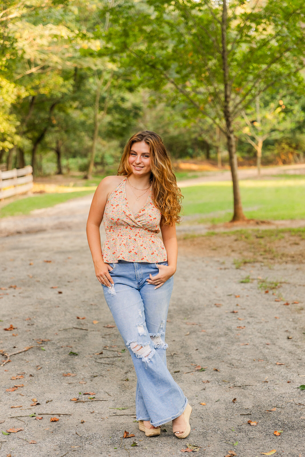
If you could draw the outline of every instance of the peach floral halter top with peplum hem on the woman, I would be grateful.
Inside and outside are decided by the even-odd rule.
[[[134,215],[126,198],[126,181],[127,178],[124,178],[111,192],[105,206],[103,260],[106,263],[117,263],[121,259],[128,262],[165,262],[166,249],[157,236],[161,213],[152,200],[151,188],[146,203]]]

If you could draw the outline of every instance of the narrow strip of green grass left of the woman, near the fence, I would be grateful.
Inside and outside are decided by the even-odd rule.
[[[17,216],[20,214],[29,214],[33,209],[47,208],[71,200],[76,197],[83,197],[90,194],[92,191],[77,191],[67,193],[54,193],[54,194],[38,194],[33,197],[25,197],[15,202],[11,202],[2,209],[0,209],[0,218],[7,216]]]

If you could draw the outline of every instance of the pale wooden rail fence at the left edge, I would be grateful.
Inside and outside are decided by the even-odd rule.
[[[28,192],[33,187],[31,165],[7,171],[0,170],[0,200]]]

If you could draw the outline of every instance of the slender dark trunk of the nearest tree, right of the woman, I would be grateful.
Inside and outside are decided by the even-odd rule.
[[[228,68],[228,53],[227,53],[227,0],[223,0],[223,14],[222,14],[222,24],[221,24],[221,41],[222,41],[222,62],[223,62],[223,72],[224,72],[224,89],[225,89],[225,101],[224,101],[224,117],[226,124],[226,137],[228,143],[228,152],[230,157],[230,167],[232,174],[233,182],[233,197],[234,197],[234,214],[231,222],[233,221],[242,221],[246,220],[244,215],[242,204],[241,204],[241,194],[238,183],[237,175],[237,156],[235,150],[235,135],[233,132],[232,126],[232,117],[230,112],[230,101],[231,101],[231,88],[230,88],[230,78],[229,78],[229,68]]]

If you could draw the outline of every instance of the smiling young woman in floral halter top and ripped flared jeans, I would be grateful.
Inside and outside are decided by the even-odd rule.
[[[134,363],[136,417],[146,436],[160,435],[170,420],[177,438],[191,430],[192,408],[166,367],[180,199],[160,136],[139,132],[125,146],[118,175],[97,187],[87,222],[96,277]],[[107,239],[101,249],[102,220]]]

